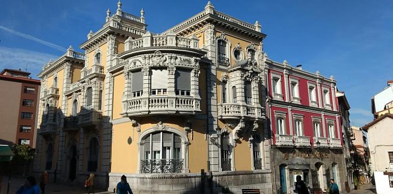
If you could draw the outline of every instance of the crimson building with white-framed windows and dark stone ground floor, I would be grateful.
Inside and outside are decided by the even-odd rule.
[[[292,67],[286,60],[264,59],[277,192],[294,190],[298,175],[312,188],[326,190],[333,178],[345,190],[347,168],[336,80]]]

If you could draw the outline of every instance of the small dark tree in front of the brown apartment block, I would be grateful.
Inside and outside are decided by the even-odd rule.
[[[12,159],[13,163],[17,166],[23,165],[23,176],[26,172],[26,164],[33,161],[35,150],[26,145],[14,145],[13,152],[15,157]]]

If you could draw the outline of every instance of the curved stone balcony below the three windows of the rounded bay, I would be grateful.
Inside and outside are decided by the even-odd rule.
[[[123,101],[124,116],[148,114],[195,114],[201,112],[201,100],[192,96],[151,95]]]

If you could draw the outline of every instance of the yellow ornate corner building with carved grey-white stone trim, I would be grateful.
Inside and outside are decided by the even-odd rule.
[[[210,2],[154,34],[117,3],[84,54],[70,46],[39,74],[35,172],[78,184],[94,172],[108,190],[126,175],[135,193],[272,193],[265,36]]]

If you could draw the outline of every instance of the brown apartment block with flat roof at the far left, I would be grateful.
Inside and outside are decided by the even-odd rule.
[[[0,72],[0,144],[36,146],[39,80],[30,72],[4,69]]]

